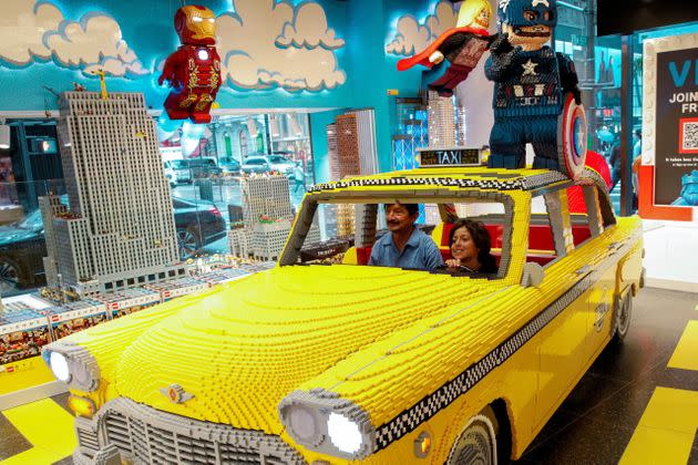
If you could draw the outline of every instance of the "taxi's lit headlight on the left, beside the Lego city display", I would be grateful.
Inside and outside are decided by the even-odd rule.
[[[92,392],[100,386],[96,360],[82,345],[58,341],[47,345],[42,354],[53,375],[70,388]]]

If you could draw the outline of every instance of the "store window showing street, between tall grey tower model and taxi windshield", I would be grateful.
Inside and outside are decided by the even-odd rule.
[[[160,149],[182,259],[229,252],[227,231],[245,220],[245,203],[255,202],[244,179],[284,175],[286,195],[275,202],[287,203],[289,211],[315,180],[307,114],[229,114],[207,125],[184,123],[161,131]]]

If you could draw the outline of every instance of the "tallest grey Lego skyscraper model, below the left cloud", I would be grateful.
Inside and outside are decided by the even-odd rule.
[[[161,281],[178,264],[170,186],[137,93],[66,92],[59,140],[70,209],[40,198],[50,287],[81,296]]]

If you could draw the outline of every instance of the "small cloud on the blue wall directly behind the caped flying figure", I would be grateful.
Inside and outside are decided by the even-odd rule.
[[[440,1],[432,14],[419,22],[411,14],[398,19],[396,33],[386,45],[386,52],[393,55],[412,55],[424,50],[446,29],[454,28],[458,11],[450,1]]]

